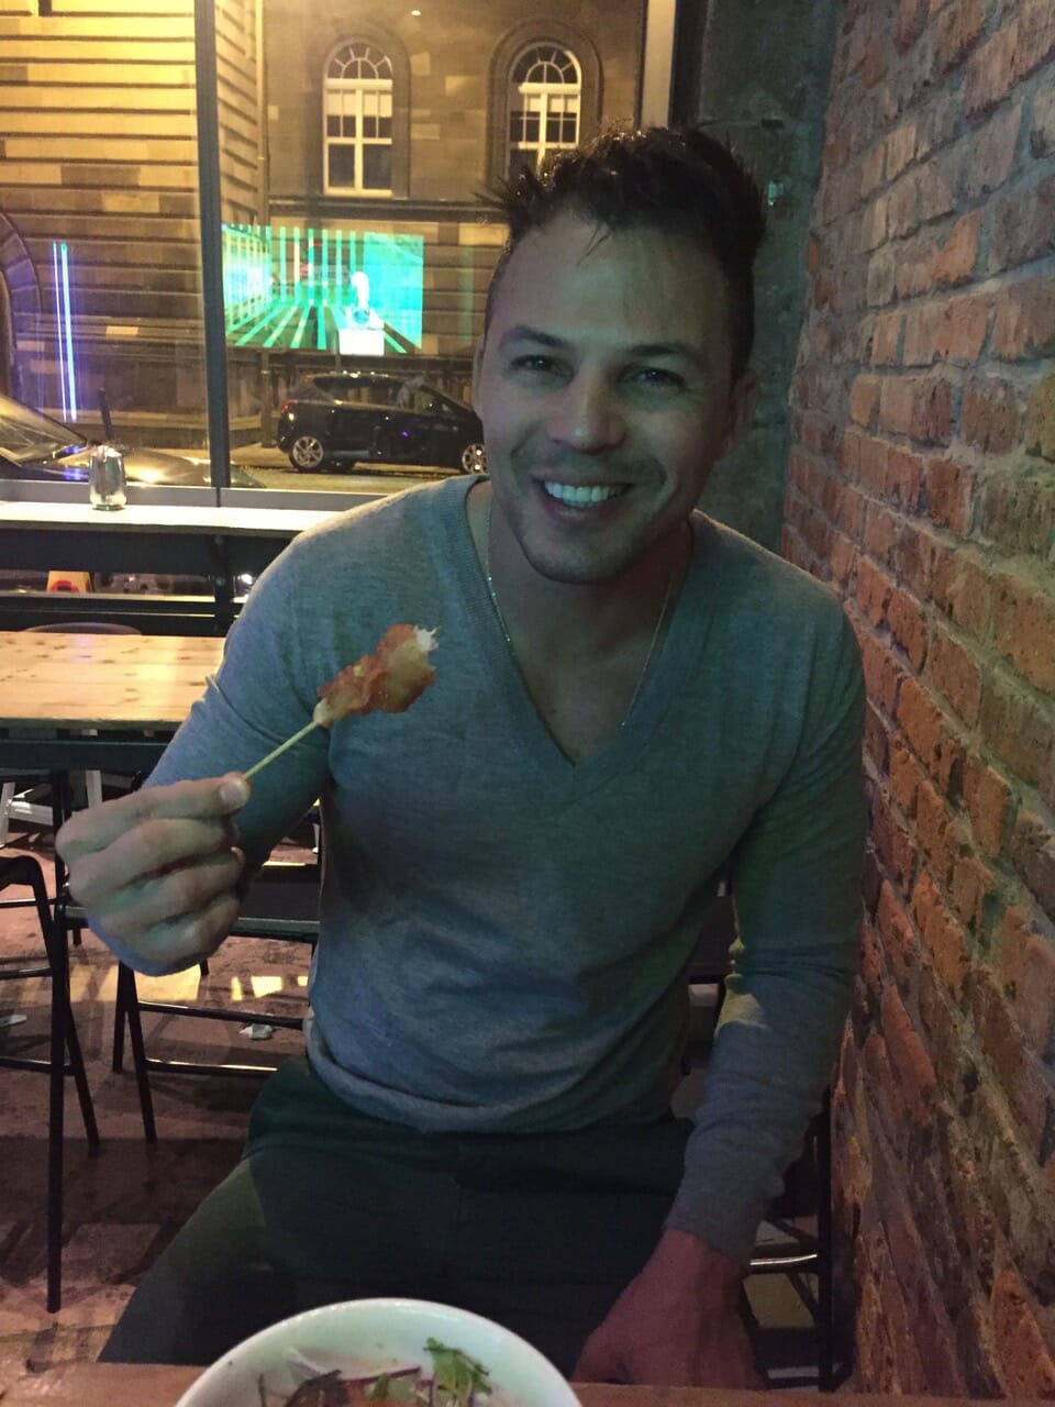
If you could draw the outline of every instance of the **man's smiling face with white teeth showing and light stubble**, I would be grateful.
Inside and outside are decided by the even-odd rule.
[[[754,405],[717,262],[681,235],[557,215],[502,273],[473,404],[536,571],[599,582],[665,553]]]

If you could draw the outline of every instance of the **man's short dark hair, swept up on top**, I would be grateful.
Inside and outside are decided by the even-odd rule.
[[[681,234],[715,256],[729,303],[733,376],[754,342],[754,257],[765,207],[754,177],[716,138],[693,127],[610,127],[591,142],[554,152],[485,197],[509,235],[487,294],[484,331],[509,256],[525,235],[570,210],[608,229]]]

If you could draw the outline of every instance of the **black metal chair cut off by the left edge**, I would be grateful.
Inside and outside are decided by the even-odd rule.
[[[89,1144],[98,1145],[98,1127],[84,1075],[73,1010],[69,1000],[69,964],[66,941],[52,919],[44,871],[31,855],[0,855],[0,889],[27,885],[44,936],[45,961],[32,967],[0,969],[0,981],[27,978],[51,979],[51,1034],[48,1058],[0,1054],[0,1067],[38,1069],[49,1075],[48,1092],[48,1310],[56,1313],[62,1303],[62,1154],[65,1121],[65,1079],[73,1076]]]

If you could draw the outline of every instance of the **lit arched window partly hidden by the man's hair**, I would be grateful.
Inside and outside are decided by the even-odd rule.
[[[581,96],[574,53],[554,44],[525,49],[509,76],[509,176],[537,170],[547,152],[577,144]]]

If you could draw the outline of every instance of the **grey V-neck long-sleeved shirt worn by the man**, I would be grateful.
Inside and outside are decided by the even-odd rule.
[[[356,1109],[422,1130],[660,1116],[685,967],[731,861],[737,971],[668,1224],[743,1262],[830,1074],[855,965],[857,643],[824,587],[696,515],[634,708],[573,764],[495,618],[468,488],[298,537],[152,781],[248,768],[388,625],[437,630],[437,681],[408,713],[316,730],[238,817],[260,862],[321,798],[308,1054]]]

